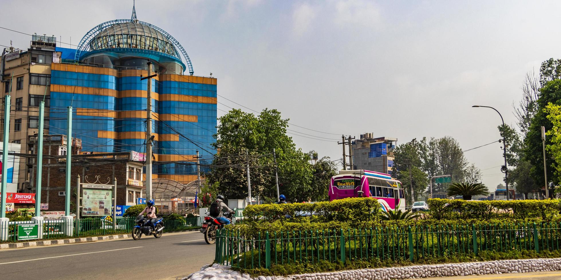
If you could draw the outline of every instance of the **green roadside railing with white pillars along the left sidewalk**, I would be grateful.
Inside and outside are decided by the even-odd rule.
[[[25,227],[19,227],[20,225]],[[42,223],[37,221],[3,222],[0,223],[0,242],[125,234],[130,233],[135,225],[135,217],[117,218],[114,228],[113,221],[99,218],[44,220]],[[183,220],[164,220],[164,226],[165,231],[184,230],[186,228],[200,227],[201,220],[199,217],[184,218]],[[34,236],[36,237],[30,238]]]

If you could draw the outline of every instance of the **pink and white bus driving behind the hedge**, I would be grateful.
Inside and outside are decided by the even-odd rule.
[[[401,182],[389,174],[364,169],[340,170],[333,176],[329,184],[329,201],[358,197],[359,191],[362,191],[362,197],[378,199],[384,211],[405,210]]]

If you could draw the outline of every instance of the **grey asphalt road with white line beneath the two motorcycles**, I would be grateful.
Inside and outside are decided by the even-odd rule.
[[[214,245],[200,232],[164,233],[160,239],[0,250],[0,278],[181,279],[213,260]]]

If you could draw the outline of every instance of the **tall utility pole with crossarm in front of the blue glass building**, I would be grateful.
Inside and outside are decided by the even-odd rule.
[[[148,76],[140,80],[148,80],[146,85],[146,201],[152,198],[152,78],[158,74],[152,73],[152,63],[148,66]]]

